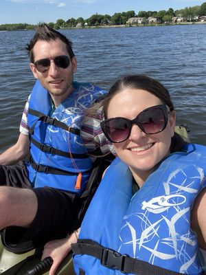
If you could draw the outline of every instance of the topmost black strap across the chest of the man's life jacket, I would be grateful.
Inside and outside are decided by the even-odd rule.
[[[76,128],[72,128],[69,127],[67,124],[65,124],[64,122],[61,122],[59,120],[56,120],[56,118],[51,118],[49,115],[45,115],[44,113],[41,113],[40,111],[36,111],[33,109],[29,109],[28,113],[30,113],[30,115],[34,115],[38,118],[38,120],[32,125],[31,129],[30,129],[30,134],[32,135],[34,128],[36,126],[36,123],[41,120],[47,124],[51,124],[54,126],[58,126],[59,128],[65,130],[65,131],[69,131],[71,133],[73,133],[74,135],[80,135],[80,129],[76,129]]]

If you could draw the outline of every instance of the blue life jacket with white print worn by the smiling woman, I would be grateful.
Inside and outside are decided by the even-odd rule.
[[[76,274],[201,274],[190,212],[205,174],[206,147],[188,144],[165,158],[133,195],[130,170],[115,159],[73,245]],[[156,267],[164,271],[152,273]]]

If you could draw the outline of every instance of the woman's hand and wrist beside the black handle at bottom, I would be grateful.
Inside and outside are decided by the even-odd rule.
[[[55,275],[60,263],[65,259],[67,254],[71,251],[71,243],[76,243],[78,240],[79,230],[73,232],[65,239],[58,239],[49,241],[45,244],[43,250],[42,260],[47,257],[52,257],[53,264],[49,270],[49,275]]]

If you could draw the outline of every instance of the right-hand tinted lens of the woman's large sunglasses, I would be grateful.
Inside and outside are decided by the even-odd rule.
[[[145,133],[159,133],[165,128],[163,109],[151,108],[138,115],[138,123]]]

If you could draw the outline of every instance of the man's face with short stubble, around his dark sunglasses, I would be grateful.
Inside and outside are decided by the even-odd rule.
[[[73,57],[72,60],[67,52],[67,47],[60,39],[52,41],[42,41],[39,40],[34,45],[34,63],[43,58],[49,58],[50,65],[44,72],[38,72],[35,65],[30,63],[32,73],[36,79],[39,79],[41,85],[52,96],[53,100],[58,98],[58,101],[65,100],[67,96],[73,91],[72,80],[73,74],[76,73],[77,63],[76,58]],[[63,69],[58,67],[54,63],[54,58],[56,56],[68,56],[70,64],[67,68]]]

